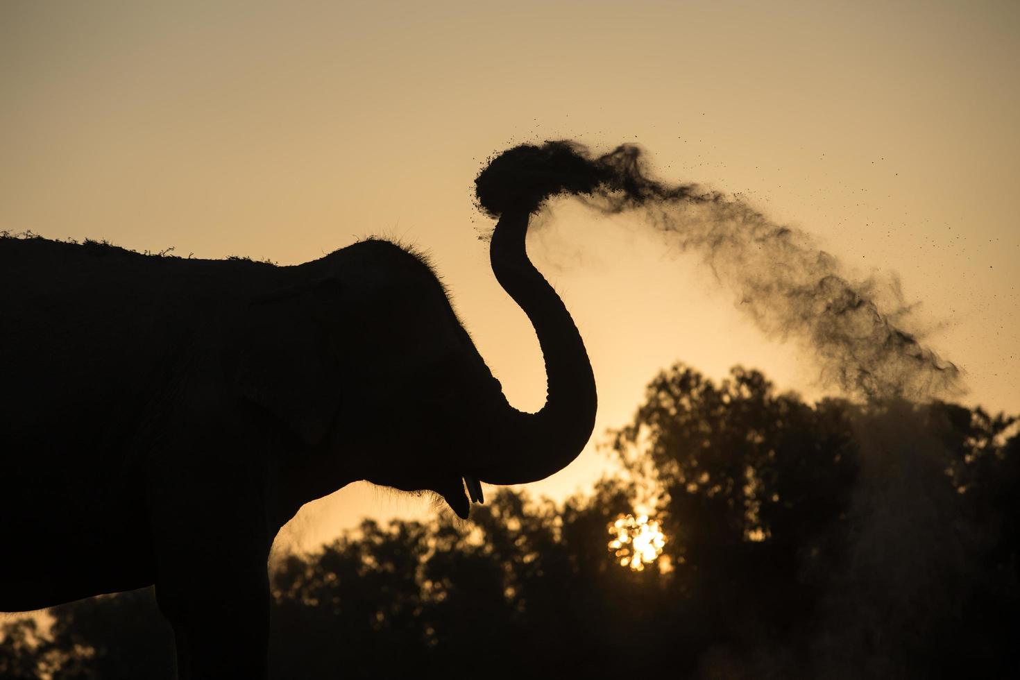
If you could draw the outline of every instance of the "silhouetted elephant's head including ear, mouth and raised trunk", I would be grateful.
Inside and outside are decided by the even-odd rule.
[[[538,413],[508,404],[435,273],[392,244],[294,267],[297,283],[251,305],[240,384],[304,444],[283,466],[293,510],[367,479],[435,491],[466,517],[479,482],[536,481],[577,457],[595,423],[595,378],[563,302],[527,258],[528,217],[505,211],[490,254],[539,337],[548,389]]]

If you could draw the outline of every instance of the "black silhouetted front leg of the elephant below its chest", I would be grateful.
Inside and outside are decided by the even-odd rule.
[[[173,628],[182,680],[259,680],[267,672],[272,541],[264,477],[256,456],[238,464],[223,438],[203,439],[152,466],[156,598]]]

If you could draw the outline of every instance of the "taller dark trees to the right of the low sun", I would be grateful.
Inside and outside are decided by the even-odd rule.
[[[677,365],[612,447],[659,493],[709,667],[998,677],[1020,671],[1013,423],[938,402],[811,406],[757,371],[716,386]]]

